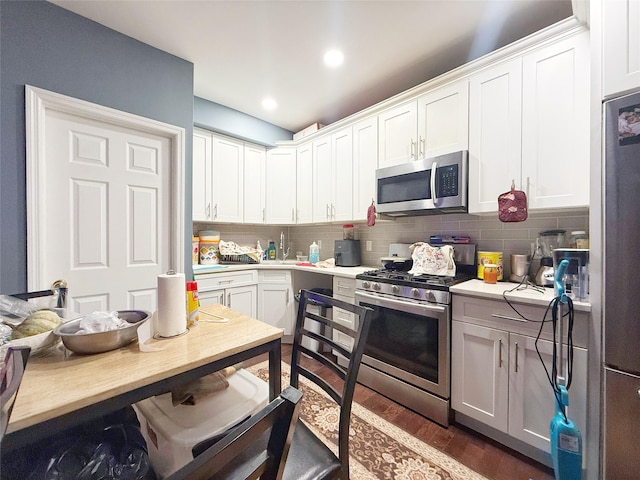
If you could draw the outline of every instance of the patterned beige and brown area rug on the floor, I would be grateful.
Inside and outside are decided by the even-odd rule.
[[[269,378],[267,362],[246,369],[263,380]],[[282,364],[283,387],[289,385],[290,369]],[[300,418],[337,454],[335,403],[304,377],[300,390],[304,394]],[[351,411],[351,480],[487,480],[358,403]]]

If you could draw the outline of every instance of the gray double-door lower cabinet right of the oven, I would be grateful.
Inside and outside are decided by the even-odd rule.
[[[491,302],[484,302],[481,306],[490,306]],[[500,318],[498,315],[502,314],[494,313],[492,321]],[[537,329],[539,325],[531,327]],[[503,329],[492,328],[454,317],[451,344],[453,410],[549,453],[549,423],[555,414],[555,398],[536,351],[535,336],[510,332],[508,324]],[[553,343],[540,339],[538,349],[551,375]],[[586,375],[587,350],[574,347],[568,414],[581,430],[583,441]]]

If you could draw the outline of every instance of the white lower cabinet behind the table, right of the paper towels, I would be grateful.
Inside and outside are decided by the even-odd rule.
[[[258,304],[258,274],[256,270],[217,273],[198,278],[200,305],[220,303],[256,318]],[[205,320],[203,315],[203,320]]]

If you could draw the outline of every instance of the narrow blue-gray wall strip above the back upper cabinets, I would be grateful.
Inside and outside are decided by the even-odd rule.
[[[199,97],[193,101],[193,124],[267,147],[293,139],[289,130]]]

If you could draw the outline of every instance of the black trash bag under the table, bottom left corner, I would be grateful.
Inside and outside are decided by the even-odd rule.
[[[3,461],[2,478],[25,480],[155,480],[133,408],[47,438]],[[3,459],[4,460],[4,459]]]

